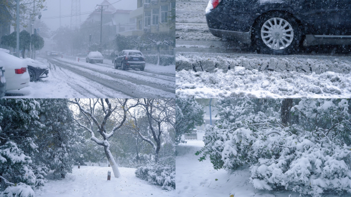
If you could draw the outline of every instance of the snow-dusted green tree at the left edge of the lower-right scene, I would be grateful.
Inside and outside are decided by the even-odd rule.
[[[204,124],[204,110],[194,99],[175,100],[175,143],[183,143],[181,136]]]

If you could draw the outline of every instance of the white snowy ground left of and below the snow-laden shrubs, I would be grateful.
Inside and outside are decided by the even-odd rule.
[[[243,168],[232,173],[228,173],[224,169],[214,170],[209,158],[199,162],[198,159],[202,155],[196,156],[194,154],[203,146],[203,141],[187,140],[186,144],[180,144],[177,147],[175,196],[287,197],[289,194],[291,197],[299,196],[293,192],[255,189],[249,183],[250,172],[248,169]],[[332,197],[335,195],[326,194],[323,196]]]

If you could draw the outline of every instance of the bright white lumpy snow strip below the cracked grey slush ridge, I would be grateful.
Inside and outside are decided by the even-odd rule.
[[[177,97],[339,97],[351,95],[351,74],[258,71],[235,67],[223,72],[176,72]]]

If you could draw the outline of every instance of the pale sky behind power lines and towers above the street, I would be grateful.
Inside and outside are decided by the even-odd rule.
[[[104,0],[80,0],[81,1],[81,13],[93,11],[97,4],[101,4]],[[109,0],[109,2],[115,3],[120,0]],[[137,0],[121,0],[120,2],[113,4],[113,7],[121,10],[135,10]],[[60,0],[46,0],[45,1],[47,10],[42,11],[42,22],[45,22],[51,31],[55,31],[60,26],[60,18],[45,19],[46,17],[60,16]],[[71,14],[71,0],[61,0],[61,15]],[[82,23],[88,17],[89,14],[81,15]],[[62,17],[62,26],[70,26],[71,17]]]

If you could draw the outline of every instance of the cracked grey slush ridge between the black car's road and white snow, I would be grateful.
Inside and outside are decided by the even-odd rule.
[[[315,72],[320,74],[326,71],[338,73],[350,73],[351,61],[343,57],[285,57],[285,56],[258,56],[252,55],[232,57],[203,55],[194,57],[191,54],[179,53],[175,57],[175,69],[212,72],[216,68],[224,72],[234,67],[244,67],[248,70],[271,70],[271,71],[297,71],[303,73]]]

